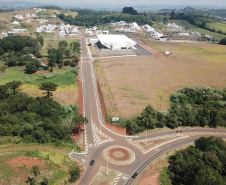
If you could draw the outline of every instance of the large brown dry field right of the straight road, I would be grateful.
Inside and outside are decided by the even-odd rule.
[[[167,110],[170,95],[185,86],[225,87],[225,46],[145,42],[155,50],[171,54],[168,57],[105,59],[95,63],[109,116],[128,118],[139,114],[148,104],[158,111]]]

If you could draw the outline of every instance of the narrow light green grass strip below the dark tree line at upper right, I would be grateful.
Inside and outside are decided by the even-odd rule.
[[[214,38],[216,38],[218,41],[220,41],[221,39],[226,37],[226,35],[222,35],[222,34],[219,34],[219,33],[214,33],[214,32],[211,32],[211,31],[199,28],[198,26],[192,25],[189,22],[184,21],[184,20],[183,21],[181,21],[181,20],[173,20],[173,22],[175,22],[176,24],[178,24],[180,26],[187,27],[188,30],[190,30],[190,31],[197,31],[197,32],[199,32],[201,34],[204,34],[204,35],[211,35]],[[212,23],[212,24],[216,24],[216,23]]]

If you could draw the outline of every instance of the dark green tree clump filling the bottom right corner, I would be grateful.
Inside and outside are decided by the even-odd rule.
[[[213,136],[201,137],[195,146],[171,156],[167,171],[173,185],[225,185],[226,143]]]

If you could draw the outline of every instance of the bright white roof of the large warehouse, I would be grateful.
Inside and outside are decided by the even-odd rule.
[[[98,40],[102,43],[102,44],[121,44],[121,43],[128,43],[131,45],[136,45],[136,42],[134,42],[132,39],[128,38],[125,35],[112,35],[112,34],[108,34],[108,35],[97,35]]]

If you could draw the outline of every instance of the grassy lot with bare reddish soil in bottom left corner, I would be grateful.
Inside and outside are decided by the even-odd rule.
[[[40,174],[36,177],[39,184],[43,178],[49,184],[62,184],[69,179],[69,168],[78,164],[67,154],[54,150],[19,150],[0,152],[0,182],[1,184],[27,184],[33,165],[38,165]]]

